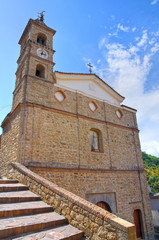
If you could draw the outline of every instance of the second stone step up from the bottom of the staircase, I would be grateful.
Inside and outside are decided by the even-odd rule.
[[[0,219],[0,239],[57,227],[65,222],[66,219],[55,212],[3,218]]]

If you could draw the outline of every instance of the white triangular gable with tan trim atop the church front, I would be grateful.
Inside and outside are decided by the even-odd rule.
[[[119,105],[124,100],[124,97],[95,74],[62,73],[56,71],[55,79],[60,86],[80,91],[112,104]]]

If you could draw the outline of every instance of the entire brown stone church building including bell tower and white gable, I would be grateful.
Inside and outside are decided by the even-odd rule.
[[[2,122],[0,174],[20,162],[135,223],[153,239],[136,110],[95,74],[53,72],[55,31],[30,19],[21,38],[11,112]]]

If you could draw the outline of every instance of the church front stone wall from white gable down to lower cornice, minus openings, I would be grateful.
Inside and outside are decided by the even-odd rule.
[[[58,90],[66,96],[62,103],[54,96]],[[95,112],[88,106],[92,100],[98,106]],[[31,77],[27,79],[26,101],[25,163],[143,168],[135,112],[120,107],[123,117],[119,119],[117,106]],[[92,128],[101,132],[101,153],[91,152]]]

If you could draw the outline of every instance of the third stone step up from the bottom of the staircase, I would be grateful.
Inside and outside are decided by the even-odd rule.
[[[14,217],[52,211],[52,207],[42,201],[0,204],[0,217]]]

